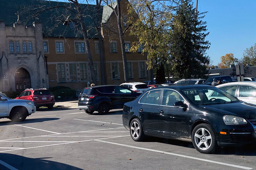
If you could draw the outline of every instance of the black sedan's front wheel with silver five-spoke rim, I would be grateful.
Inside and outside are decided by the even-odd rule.
[[[192,142],[200,153],[208,154],[217,147],[216,136],[209,124],[198,124],[192,132]]]

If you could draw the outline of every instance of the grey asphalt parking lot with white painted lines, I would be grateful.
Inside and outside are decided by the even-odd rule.
[[[0,119],[0,169],[256,169],[256,146],[201,154],[192,143],[148,138],[135,142],[122,111],[86,114],[40,109],[24,122]]]

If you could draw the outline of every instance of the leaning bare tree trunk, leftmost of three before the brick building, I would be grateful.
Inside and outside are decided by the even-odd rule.
[[[89,62],[89,67],[90,67],[90,71],[91,71],[92,82],[95,84],[95,86],[97,86],[98,84],[97,84],[97,78],[96,78],[94,65],[93,65],[93,61],[92,61],[92,56],[91,56],[90,43],[89,43],[88,36],[87,36],[86,26],[84,24],[84,18],[81,15],[81,8],[80,8],[78,2],[76,3],[76,8],[77,8],[77,12],[79,14],[79,21],[80,21],[81,28],[82,28],[82,33],[83,33],[83,36],[84,36],[86,53],[87,53],[87,56],[88,56],[88,62]]]

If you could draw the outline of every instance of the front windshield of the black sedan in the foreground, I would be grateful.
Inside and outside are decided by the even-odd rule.
[[[239,100],[231,94],[216,87],[201,87],[183,90],[185,95],[199,105],[236,103]]]

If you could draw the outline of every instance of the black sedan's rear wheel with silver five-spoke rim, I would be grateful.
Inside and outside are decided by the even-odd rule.
[[[145,134],[143,132],[140,120],[135,118],[130,123],[130,135],[133,141],[143,141],[145,138]]]

